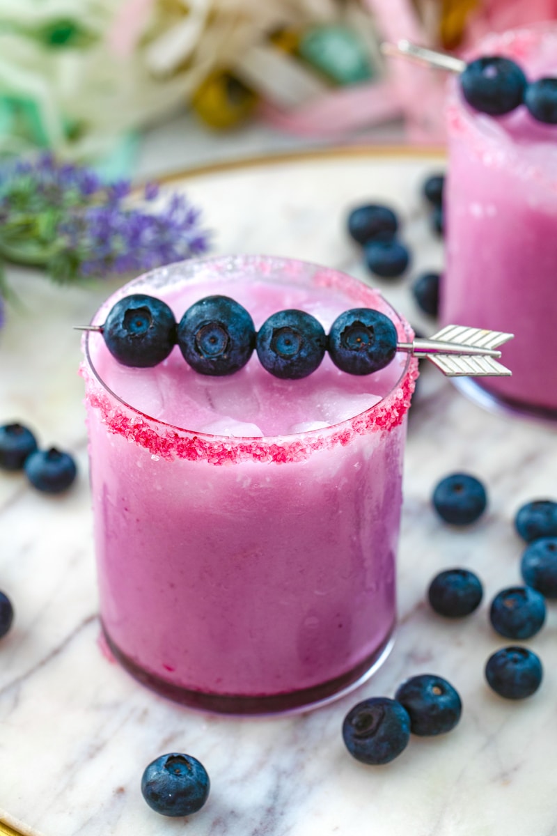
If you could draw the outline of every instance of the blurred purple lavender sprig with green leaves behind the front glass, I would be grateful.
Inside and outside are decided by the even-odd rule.
[[[149,204],[157,186],[146,186],[139,204],[129,195],[129,182],[107,186],[94,171],[51,155],[4,166],[0,256],[46,268],[59,283],[75,283],[139,273],[207,251],[208,232],[185,196],[175,194],[154,212]]]

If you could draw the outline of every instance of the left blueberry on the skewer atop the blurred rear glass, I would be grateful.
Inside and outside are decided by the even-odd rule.
[[[527,81],[514,61],[492,56],[468,64],[460,84],[464,99],[474,110],[502,116],[523,103]]]

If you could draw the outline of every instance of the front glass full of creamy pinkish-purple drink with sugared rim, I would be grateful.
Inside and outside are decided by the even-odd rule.
[[[237,268],[226,263],[171,268],[158,287],[148,277],[118,295],[159,296],[180,319],[197,299],[225,293],[256,328],[289,307],[326,329],[356,306],[395,316],[333,271],[249,257]],[[113,648],[154,687],[183,690],[170,696],[185,702],[191,693],[318,691],[362,675],[395,620],[414,361],[397,354],[377,375],[354,377],[326,357],[313,375],[288,381],[254,354],[235,375],[208,378],[178,349],[154,369],[130,370],[99,334],[88,342],[100,610]]]

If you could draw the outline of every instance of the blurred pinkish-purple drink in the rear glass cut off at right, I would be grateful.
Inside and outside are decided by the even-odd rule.
[[[515,60],[530,80],[557,76],[557,26],[491,36],[479,54]],[[557,410],[557,125],[524,106],[497,119],[477,113],[455,80],[448,136],[443,324],[513,333],[504,347],[513,376],[481,385]]]

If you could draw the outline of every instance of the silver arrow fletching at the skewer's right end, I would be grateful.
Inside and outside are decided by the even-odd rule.
[[[446,325],[430,339],[399,343],[397,349],[427,358],[447,377],[509,377],[512,372],[495,358],[501,356],[499,345],[513,337],[503,331]]]

